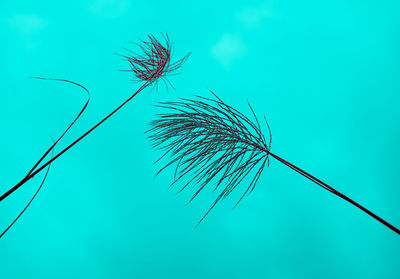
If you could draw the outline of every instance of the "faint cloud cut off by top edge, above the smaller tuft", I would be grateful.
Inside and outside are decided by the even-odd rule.
[[[129,0],[93,0],[89,10],[97,16],[116,18],[123,15],[130,7]]]

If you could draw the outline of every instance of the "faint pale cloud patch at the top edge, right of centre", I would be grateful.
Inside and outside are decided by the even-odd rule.
[[[248,28],[256,28],[267,18],[278,18],[272,3],[263,3],[257,7],[246,7],[236,14],[238,21]]]

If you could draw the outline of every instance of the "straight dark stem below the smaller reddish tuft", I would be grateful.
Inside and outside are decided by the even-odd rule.
[[[28,174],[26,177],[24,177],[20,182],[18,182],[14,187],[12,187],[10,190],[5,192],[1,197],[0,197],[0,202],[3,201],[5,198],[7,198],[9,195],[11,195],[14,191],[16,191],[19,187],[21,187],[23,184],[25,184],[27,181],[29,181],[31,178],[33,178],[36,174],[41,172],[43,169],[45,169],[49,164],[51,164],[54,160],[56,160],[58,157],[60,157],[62,154],[64,154],[66,151],[68,151],[71,147],[73,147],[75,144],[77,144],[79,141],[81,141],[84,137],[86,137],[88,134],[90,134],[94,129],[99,127],[103,122],[105,122],[108,118],[110,118],[114,113],[116,113],[118,110],[120,110],[124,105],[126,105],[130,100],[133,99],[140,91],[145,89],[147,86],[149,86],[151,83],[146,82],[144,83],[132,96],[130,96],[127,100],[125,100],[120,106],[118,106],[116,109],[114,109],[111,113],[109,113],[106,117],[103,118],[100,122],[98,122],[96,125],[94,125],[92,128],[90,128],[86,133],[84,133],[82,136],[80,136],[78,139],[76,139],[73,143],[68,145],[66,148],[64,148],[62,151],[60,151],[57,155],[55,155],[53,158],[51,158],[49,161],[47,161],[45,164],[43,164],[41,167],[39,167],[37,170],[34,172]]]

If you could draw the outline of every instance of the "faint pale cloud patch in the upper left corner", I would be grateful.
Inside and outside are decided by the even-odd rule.
[[[15,14],[7,19],[7,23],[27,49],[39,46],[38,33],[48,25],[47,20],[37,14]]]

